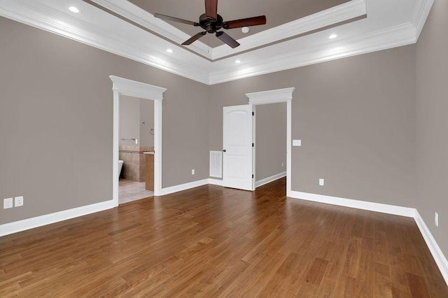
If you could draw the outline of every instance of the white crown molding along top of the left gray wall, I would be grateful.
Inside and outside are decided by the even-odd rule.
[[[169,57],[149,45],[137,45],[132,38],[123,34],[112,35],[105,29],[92,26],[38,1],[0,0],[0,15],[200,83],[209,83],[208,73],[202,69]]]

